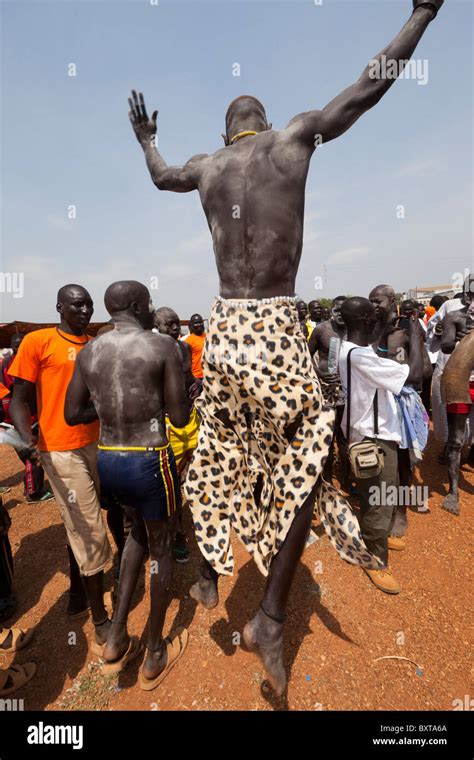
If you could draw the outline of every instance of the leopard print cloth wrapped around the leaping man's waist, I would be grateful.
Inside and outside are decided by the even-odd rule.
[[[380,567],[349,504],[321,478],[334,410],[323,407],[294,299],[216,299],[203,369],[185,492],[198,546],[214,569],[233,573],[233,528],[266,576],[316,483],[316,509],[340,556]]]

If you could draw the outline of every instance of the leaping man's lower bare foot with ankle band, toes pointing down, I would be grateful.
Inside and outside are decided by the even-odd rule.
[[[259,609],[244,628],[244,641],[262,661],[271,685],[281,697],[287,685],[283,666],[283,623],[276,623]]]

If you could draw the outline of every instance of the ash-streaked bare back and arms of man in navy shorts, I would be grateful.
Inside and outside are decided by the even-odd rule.
[[[101,423],[101,445],[166,446],[165,409],[177,427],[189,415],[176,341],[143,329],[133,318],[114,319],[114,329],[85,346],[76,360],[66,400],[69,415],[77,416],[91,401]]]

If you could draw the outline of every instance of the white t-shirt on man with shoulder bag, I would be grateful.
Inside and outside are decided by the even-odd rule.
[[[339,376],[347,396],[347,354],[351,348],[351,429],[349,443],[374,437],[374,397],[378,404],[378,437],[401,443],[400,420],[394,394],[398,395],[410,373],[408,364],[377,356],[372,346],[357,346],[343,340],[339,353]],[[341,427],[346,434],[347,404]]]

